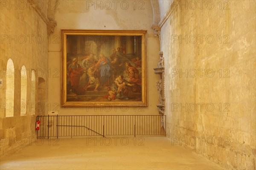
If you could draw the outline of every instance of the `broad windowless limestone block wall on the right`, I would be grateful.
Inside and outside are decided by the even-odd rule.
[[[256,167],[255,12],[250,0],[174,1],[160,21],[167,134],[224,168]]]

